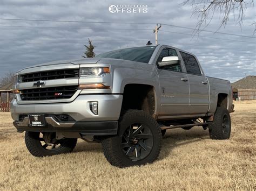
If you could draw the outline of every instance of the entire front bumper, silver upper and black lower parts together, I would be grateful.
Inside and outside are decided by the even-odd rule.
[[[11,102],[11,116],[18,132],[79,132],[87,135],[116,135],[123,95],[79,95],[69,103],[18,104]],[[98,101],[98,115],[90,110],[90,102]],[[45,127],[29,126],[29,114],[44,114]],[[25,116],[23,119],[19,116]],[[69,115],[73,121],[58,121],[54,115]],[[53,116],[53,117],[52,117]]]

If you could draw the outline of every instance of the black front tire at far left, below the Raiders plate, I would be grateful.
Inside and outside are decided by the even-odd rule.
[[[72,152],[76,146],[77,139],[75,138],[64,138],[60,143],[58,150],[46,150],[43,148],[39,140],[39,132],[25,132],[25,144],[29,152],[35,157],[45,157],[49,155],[63,154]]]

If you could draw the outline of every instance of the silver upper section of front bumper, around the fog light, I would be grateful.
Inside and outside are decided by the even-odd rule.
[[[123,95],[98,94],[79,95],[69,103],[18,104],[16,99],[11,102],[11,117],[19,120],[19,115],[52,114],[69,115],[75,121],[117,121],[120,116]],[[98,115],[90,110],[90,102],[98,101]]]

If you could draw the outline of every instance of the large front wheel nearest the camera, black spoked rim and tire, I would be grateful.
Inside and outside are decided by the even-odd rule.
[[[118,167],[151,163],[159,155],[161,137],[159,125],[150,115],[127,110],[120,118],[118,135],[103,140],[104,155]]]

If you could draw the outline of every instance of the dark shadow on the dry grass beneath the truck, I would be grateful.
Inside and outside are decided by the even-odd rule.
[[[209,133],[208,130],[203,130],[201,128],[193,128],[191,130],[167,130],[166,135],[162,140],[162,147],[158,160],[164,159],[170,155],[173,148],[189,145],[194,142],[200,142],[204,139],[209,139]],[[102,153],[102,144],[87,143],[80,140],[73,152]]]

